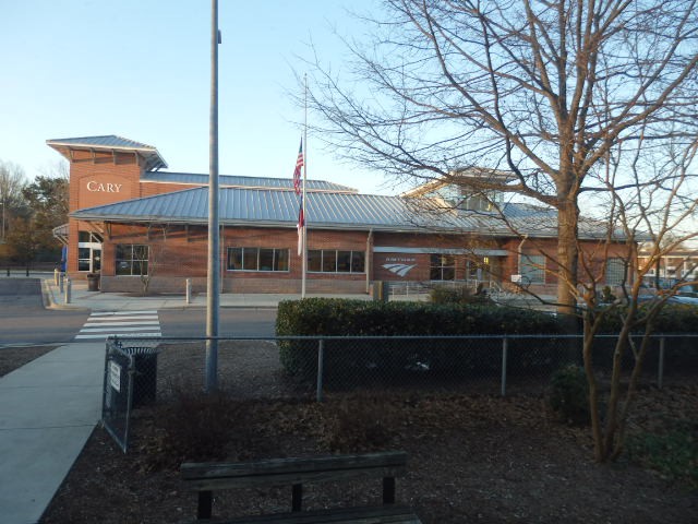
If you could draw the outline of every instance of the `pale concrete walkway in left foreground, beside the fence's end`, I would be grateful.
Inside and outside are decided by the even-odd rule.
[[[99,421],[105,344],[61,346],[0,378],[0,521],[35,524]]]

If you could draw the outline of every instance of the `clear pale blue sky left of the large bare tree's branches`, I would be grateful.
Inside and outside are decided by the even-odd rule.
[[[303,120],[288,92],[312,40],[333,70],[346,9],[377,0],[219,0],[220,172],[291,177]],[[158,148],[169,170],[208,171],[210,2],[0,0],[0,159],[29,178],[60,158],[48,139],[118,134]],[[311,135],[309,177],[394,193],[381,174],[342,165]]]

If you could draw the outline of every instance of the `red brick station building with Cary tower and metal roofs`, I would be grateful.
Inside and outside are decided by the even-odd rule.
[[[185,278],[205,289],[207,175],[164,171],[155,147],[113,135],[47,144],[70,162],[70,222],[58,233],[71,277],[99,272],[105,291],[137,290],[144,278],[152,290],[181,291]],[[299,293],[299,203],[290,177],[221,176],[219,184],[222,291]],[[520,226],[514,235],[476,198],[444,212],[436,190],[370,195],[309,180],[308,293],[369,293],[374,281],[524,281],[554,289],[551,211],[508,205],[508,219]],[[602,236],[582,235],[592,253]],[[600,262],[611,284],[627,271],[622,253],[612,247]]]

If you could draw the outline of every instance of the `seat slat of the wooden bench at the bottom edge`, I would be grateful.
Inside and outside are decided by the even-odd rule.
[[[421,524],[407,507],[368,507],[242,516],[225,524]]]

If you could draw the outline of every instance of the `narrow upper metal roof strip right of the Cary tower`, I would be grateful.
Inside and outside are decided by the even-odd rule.
[[[172,172],[172,171],[149,171],[143,174],[142,182],[158,183],[182,183],[207,186],[208,175],[197,172]],[[220,175],[218,179],[220,187],[229,188],[250,188],[250,189],[286,189],[293,190],[293,180],[291,178],[267,178],[267,177],[246,177],[241,175]],[[348,186],[327,182],[325,180],[306,180],[306,191],[334,191],[346,193],[358,193],[359,191]]]

